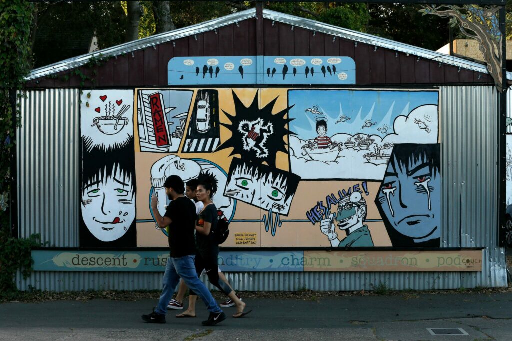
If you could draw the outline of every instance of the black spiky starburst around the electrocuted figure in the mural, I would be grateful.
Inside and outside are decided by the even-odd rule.
[[[251,161],[255,163],[266,162],[270,167],[275,168],[276,154],[279,151],[287,153],[284,137],[289,134],[295,135],[294,132],[287,128],[289,123],[294,119],[285,118],[293,105],[276,113],[275,115],[272,115],[272,110],[279,96],[260,109],[258,95],[259,92],[254,96],[252,103],[246,107],[233,90],[233,101],[236,115],[231,115],[230,113],[222,110],[231,121],[231,124],[221,123],[221,125],[231,131],[232,136],[220,145],[217,150],[233,148],[229,156],[240,154],[244,161]],[[265,129],[265,131],[264,129],[252,131],[251,135],[251,131],[249,130],[250,123],[255,122],[258,122],[261,127],[271,126],[272,128],[268,132],[268,129]],[[254,128],[252,128],[252,130],[254,130]],[[247,146],[244,144],[244,141],[251,136],[257,144],[258,139],[260,139],[260,142],[262,142],[262,146],[260,147],[265,148],[268,152],[262,154],[257,148],[244,148],[244,146]],[[263,138],[265,138],[265,140],[261,140]]]

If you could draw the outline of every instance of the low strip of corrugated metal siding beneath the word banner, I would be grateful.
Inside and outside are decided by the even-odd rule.
[[[163,272],[36,271],[27,280],[18,274],[17,284],[22,290],[158,290],[162,277]],[[226,277],[234,288],[244,291],[373,290],[380,283],[393,289],[431,290],[495,286],[501,281],[475,272],[463,276],[460,272],[231,272]],[[207,277],[201,279],[217,290]]]

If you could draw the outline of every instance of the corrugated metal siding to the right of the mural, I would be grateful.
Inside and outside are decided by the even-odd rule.
[[[484,249],[482,271],[464,287],[506,286],[498,247],[498,96],[494,86],[441,88],[442,246]]]

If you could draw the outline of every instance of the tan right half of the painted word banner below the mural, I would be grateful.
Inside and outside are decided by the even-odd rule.
[[[481,250],[305,251],[304,271],[481,271]]]

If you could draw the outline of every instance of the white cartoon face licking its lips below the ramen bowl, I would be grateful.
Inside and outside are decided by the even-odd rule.
[[[83,221],[102,241],[122,237],[135,219],[132,178],[116,166],[110,174],[106,169],[99,172],[82,189]]]

